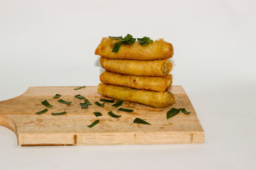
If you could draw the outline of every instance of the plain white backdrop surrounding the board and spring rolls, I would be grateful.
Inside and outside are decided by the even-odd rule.
[[[165,38],[205,143],[18,147],[0,126],[0,169],[256,169],[255,9],[253,0],[1,0],[0,100],[29,86],[97,85],[104,36]]]

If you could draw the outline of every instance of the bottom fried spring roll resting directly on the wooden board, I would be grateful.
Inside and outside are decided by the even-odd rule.
[[[170,92],[136,90],[129,87],[106,85],[104,83],[99,84],[98,92],[114,99],[141,103],[156,108],[165,108],[175,103],[175,98]]]

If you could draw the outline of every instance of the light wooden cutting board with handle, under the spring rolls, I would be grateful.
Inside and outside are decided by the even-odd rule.
[[[74,87],[29,87],[21,96],[0,102],[0,125],[8,127],[17,135],[19,146],[63,146],[63,145],[131,145],[131,144],[170,144],[170,143],[204,143],[204,130],[196,116],[186,92],[181,86],[173,86],[176,103],[168,108],[153,108],[143,104],[124,102],[120,107],[134,110],[132,113],[118,111],[118,108],[106,103],[104,108],[94,104],[101,97],[97,87],[74,90]],[[72,101],[70,105],[58,103],[60,99]],[[92,105],[82,109],[79,99],[81,94]],[[107,97],[104,97],[107,98]],[[41,102],[47,100],[53,105],[49,111],[36,115],[46,106]],[[166,119],[171,108],[186,108],[191,111]],[[66,111],[66,115],[52,116],[51,113]],[[95,117],[94,111],[102,113]],[[113,111],[120,118],[108,115]],[[152,125],[134,124],[135,118],[141,118]],[[99,124],[92,128],[87,125],[95,120]]]

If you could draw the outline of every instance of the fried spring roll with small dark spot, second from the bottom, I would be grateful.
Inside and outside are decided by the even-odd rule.
[[[172,85],[172,75],[167,76],[132,76],[104,71],[100,74],[102,83],[111,85],[120,85],[141,90],[152,90],[157,92],[165,92]]]

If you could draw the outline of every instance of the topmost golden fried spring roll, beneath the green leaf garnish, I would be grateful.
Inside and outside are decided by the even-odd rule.
[[[95,50],[95,55],[109,59],[157,60],[168,59],[173,56],[173,46],[163,39],[157,39],[148,45],[140,45],[137,41],[132,45],[122,44],[117,53],[112,52],[118,39],[102,38]]]

